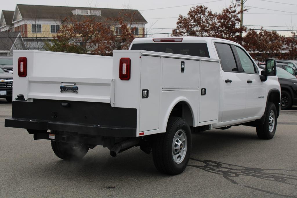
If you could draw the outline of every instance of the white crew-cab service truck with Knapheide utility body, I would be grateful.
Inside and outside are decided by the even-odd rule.
[[[13,70],[5,126],[51,140],[65,160],[96,145],[111,156],[140,146],[160,172],[176,175],[187,166],[191,132],[242,124],[271,139],[280,111],[276,62],[259,72],[224,39],[140,38],[113,57],[20,50]]]

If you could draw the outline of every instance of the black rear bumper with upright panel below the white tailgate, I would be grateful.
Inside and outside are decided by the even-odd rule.
[[[13,101],[12,118],[5,119],[5,126],[79,135],[136,137],[136,122],[136,109],[97,102],[34,99],[33,102]]]

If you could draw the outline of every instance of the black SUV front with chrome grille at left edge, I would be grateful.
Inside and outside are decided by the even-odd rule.
[[[12,102],[12,74],[0,68],[0,98]]]

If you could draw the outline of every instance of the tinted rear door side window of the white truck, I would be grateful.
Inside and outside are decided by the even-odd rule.
[[[235,56],[229,44],[216,43],[215,44],[221,65],[224,72],[238,72]]]

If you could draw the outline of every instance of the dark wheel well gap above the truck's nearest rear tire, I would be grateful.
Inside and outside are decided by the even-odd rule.
[[[192,111],[186,102],[178,102],[173,107],[169,116],[184,118],[184,120],[188,123],[189,126],[194,125]]]

